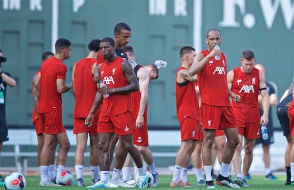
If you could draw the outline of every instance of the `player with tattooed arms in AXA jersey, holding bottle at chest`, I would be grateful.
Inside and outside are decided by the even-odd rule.
[[[99,92],[95,97],[94,104],[85,124],[91,125],[98,106],[102,104],[101,113],[98,119],[98,145],[100,158],[100,181],[88,188],[107,188],[109,187],[109,144],[113,134],[119,136],[124,150],[130,153],[138,166],[140,181],[139,187],[147,187],[147,179],[145,169],[141,160],[138,149],[133,145],[133,116],[131,108],[130,93],[139,90],[138,80],[130,63],[122,57],[118,57],[115,53],[115,42],[111,38],[104,38],[100,41],[100,49],[103,57],[107,60],[98,66],[99,79],[104,85],[99,85]],[[103,97],[103,95],[105,97]],[[124,163],[125,157],[121,156],[123,151],[116,151],[116,162]],[[123,153],[124,154],[124,153]],[[123,164],[121,164],[123,165]],[[116,172],[113,175],[117,175]],[[112,179],[117,187],[126,187],[123,180],[119,176]]]

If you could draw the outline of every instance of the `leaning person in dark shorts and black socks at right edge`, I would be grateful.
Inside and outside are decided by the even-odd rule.
[[[285,152],[285,166],[286,166],[286,183],[285,185],[291,185],[291,166],[290,166],[290,153],[292,149],[292,136],[290,131],[290,123],[288,117],[289,105],[293,100],[293,89],[294,81],[291,83],[290,87],[282,95],[279,104],[277,105],[277,116],[280,121],[281,127],[283,129],[283,135],[287,139],[287,148]]]

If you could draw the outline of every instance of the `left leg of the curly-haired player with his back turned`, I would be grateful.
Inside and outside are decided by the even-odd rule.
[[[88,132],[76,133],[76,149],[74,153],[74,169],[76,185],[85,186],[83,183],[84,153],[87,146]]]

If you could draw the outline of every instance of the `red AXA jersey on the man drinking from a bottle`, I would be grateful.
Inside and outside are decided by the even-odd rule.
[[[210,52],[205,49],[201,53],[206,57]],[[202,70],[197,73],[201,103],[230,106],[226,74],[226,58],[223,53],[220,60],[212,57],[206,62]]]

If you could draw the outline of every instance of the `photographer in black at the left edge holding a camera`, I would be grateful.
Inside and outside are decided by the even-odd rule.
[[[3,52],[0,49],[0,153],[2,150],[3,142],[8,141],[8,128],[6,123],[5,101],[6,101],[6,85],[14,87],[16,82],[11,78],[8,72],[3,72],[1,69],[2,64],[6,62],[6,57],[3,57]],[[0,181],[4,181],[0,175]]]

